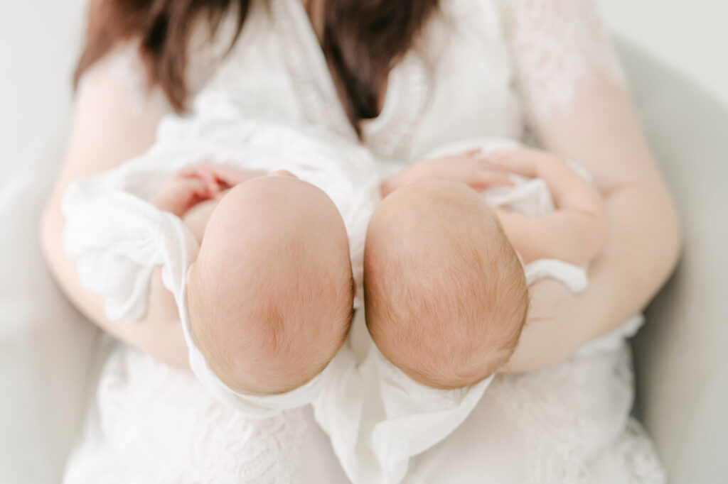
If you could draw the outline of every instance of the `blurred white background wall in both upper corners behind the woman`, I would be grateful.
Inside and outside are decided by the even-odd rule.
[[[35,156],[66,121],[86,1],[0,2],[0,177]],[[728,2],[596,1],[612,31],[728,106]]]

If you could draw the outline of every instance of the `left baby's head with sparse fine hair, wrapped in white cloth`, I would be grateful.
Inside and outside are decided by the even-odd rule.
[[[353,297],[341,214],[294,177],[232,188],[187,276],[197,347],[224,384],[245,393],[288,392],[323,371],[346,339]]]

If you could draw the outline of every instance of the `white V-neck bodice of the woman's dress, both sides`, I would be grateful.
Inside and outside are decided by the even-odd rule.
[[[202,94],[356,140],[300,0],[253,2],[240,40]],[[446,0],[389,73],[361,141],[407,162],[451,142],[521,136],[518,98],[495,2]]]

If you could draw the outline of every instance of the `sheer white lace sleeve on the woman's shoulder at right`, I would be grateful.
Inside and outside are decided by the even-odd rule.
[[[502,0],[516,89],[539,124],[568,108],[582,87],[625,76],[593,0]]]

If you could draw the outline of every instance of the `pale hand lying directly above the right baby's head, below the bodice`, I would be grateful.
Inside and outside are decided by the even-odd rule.
[[[432,178],[461,182],[478,191],[494,185],[513,185],[507,173],[494,167],[491,161],[484,158],[481,150],[476,149],[459,155],[416,161],[385,180],[381,184],[381,195],[385,197],[399,187]]]

